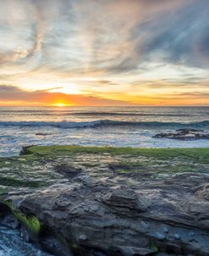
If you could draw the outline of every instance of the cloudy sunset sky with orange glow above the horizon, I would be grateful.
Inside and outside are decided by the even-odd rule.
[[[0,0],[0,105],[209,105],[209,0]]]

